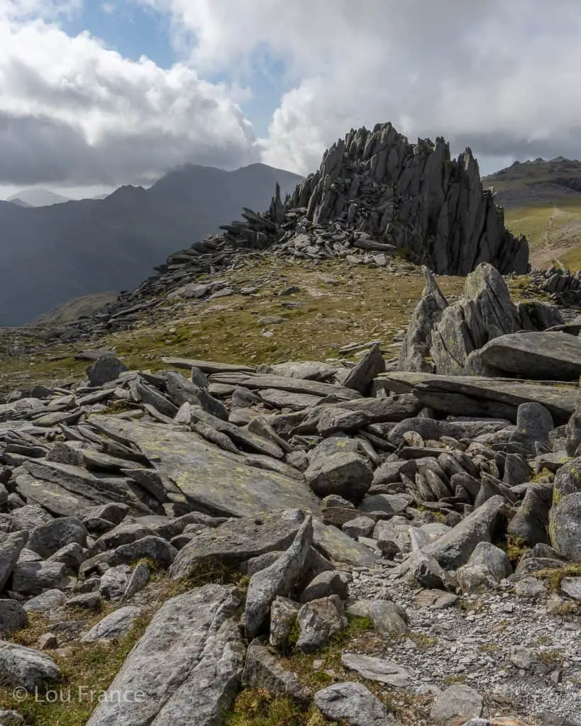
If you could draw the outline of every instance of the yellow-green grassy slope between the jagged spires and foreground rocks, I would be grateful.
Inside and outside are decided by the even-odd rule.
[[[410,320],[424,287],[418,267],[397,261],[392,269],[353,266],[345,260],[322,264],[279,261],[264,256],[252,267],[224,274],[235,290],[257,287],[202,303],[168,302],[144,314],[135,327],[90,344],[51,346],[36,354],[6,356],[1,348],[30,346],[42,326],[4,330],[0,337],[0,392],[34,383],[52,384],[84,377],[83,348],[109,348],[132,368],[161,370],[163,356],[219,362],[277,363],[341,357],[342,346],[381,340],[386,357],[397,355],[400,333]],[[449,301],[463,293],[465,278],[439,277]],[[525,278],[510,280],[514,300]],[[293,293],[280,295],[290,286]],[[38,340],[38,338],[37,338]]]

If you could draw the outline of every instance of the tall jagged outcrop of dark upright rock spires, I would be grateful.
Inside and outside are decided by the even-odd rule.
[[[529,269],[527,240],[505,229],[503,208],[483,190],[471,150],[452,160],[444,139],[410,144],[391,123],[349,131],[284,204],[275,197],[263,224],[249,210],[244,216],[245,223],[222,229],[251,246],[280,242],[275,227],[294,217],[296,232],[312,232],[304,221],[319,228],[337,221],[438,274],[468,274],[481,262],[503,274]]]

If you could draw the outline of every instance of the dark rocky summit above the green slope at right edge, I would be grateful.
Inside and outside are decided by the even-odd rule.
[[[581,201],[581,161],[555,159],[515,161],[511,166],[482,178],[494,187],[497,204],[507,209],[535,204]]]

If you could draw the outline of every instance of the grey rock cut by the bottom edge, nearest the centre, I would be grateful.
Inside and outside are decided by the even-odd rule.
[[[361,683],[334,683],[317,691],[314,703],[324,716],[349,726],[397,726],[383,703]]]

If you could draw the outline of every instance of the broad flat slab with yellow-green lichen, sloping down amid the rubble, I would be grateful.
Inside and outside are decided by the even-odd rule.
[[[97,416],[92,420],[135,441],[155,462],[161,477],[174,481],[187,499],[208,514],[253,516],[285,507],[319,511],[319,500],[306,484],[249,467],[244,457],[219,449],[196,433],[114,417]]]

